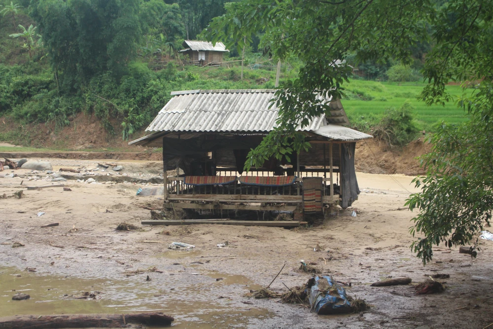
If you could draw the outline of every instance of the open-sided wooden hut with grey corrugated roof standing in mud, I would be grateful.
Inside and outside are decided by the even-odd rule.
[[[324,206],[347,208],[357,199],[355,144],[372,136],[346,127],[339,99],[327,99],[330,113],[298,127],[312,145],[307,152],[271,158],[244,173],[248,151],[276,127],[275,92],[172,92],[147,127],[149,135],[129,143],[163,147],[165,207],[322,214]],[[168,178],[168,168],[184,175]]]

